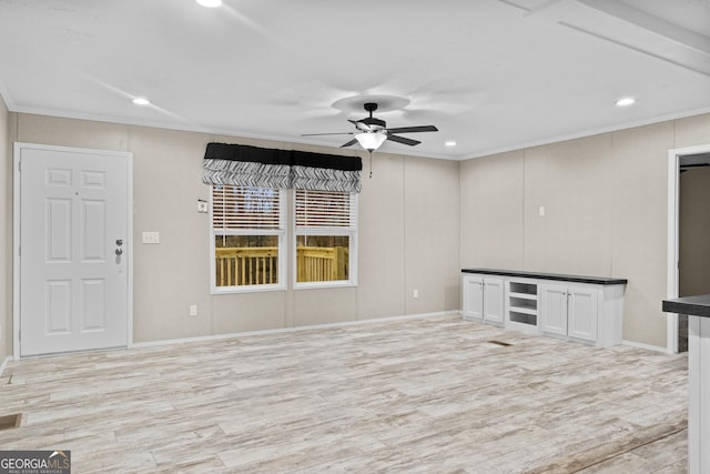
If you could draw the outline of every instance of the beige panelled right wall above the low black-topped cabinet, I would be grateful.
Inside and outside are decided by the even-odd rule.
[[[703,143],[710,114],[462,162],[462,266],[626,278],[623,337],[665,346],[668,150]]]

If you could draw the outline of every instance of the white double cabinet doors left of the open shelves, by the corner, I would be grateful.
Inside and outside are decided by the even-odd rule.
[[[464,319],[503,324],[503,279],[465,275],[463,282]]]

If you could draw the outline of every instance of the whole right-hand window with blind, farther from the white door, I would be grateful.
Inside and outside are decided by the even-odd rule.
[[[357,195],[295,191],[294,286],[355,284]]]

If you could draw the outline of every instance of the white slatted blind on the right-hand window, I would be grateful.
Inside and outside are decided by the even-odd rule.
[[[296,228],[355,226],[355,209],[349,193],[296,190]]]

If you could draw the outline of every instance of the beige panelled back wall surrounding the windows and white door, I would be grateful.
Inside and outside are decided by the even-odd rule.
[[[133,242],[140,242],[144,231],[161,235],[159,245],[136,243],[133,248],[135,342],[459,307],[458,162],[376,153],[373,178],[368,178],[369,161],[363,160],[356,288],[211,295],[209,214],[196,212],[196,201],[207,199],[210,191],[201,171],[206,143],[296,145],[24,113],[17,117],[13,141],[133,153]],[[10,178],[4,182],[11,182]],[[417,300],[412,297],[415,289]],[[196,317],[189,316],[191,304],[197,305]]]

